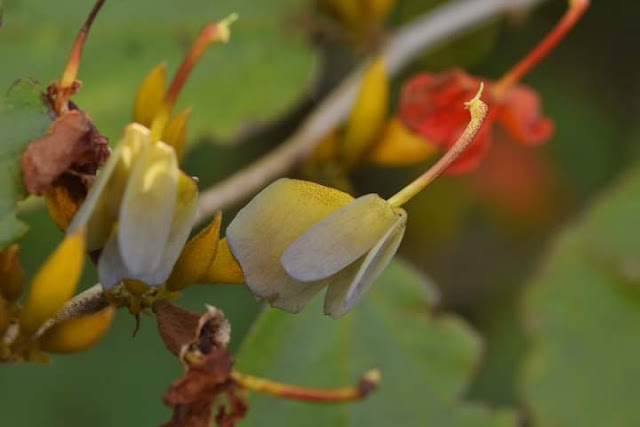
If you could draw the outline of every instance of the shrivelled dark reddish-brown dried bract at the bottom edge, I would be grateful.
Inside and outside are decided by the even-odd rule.
[[[234,391],[233,359],[227,351],[231,328],[222,311],[207,306],[207,312],[200,315],[166,300],[154,303],[153,311],[162,340],[186,368],[164,396],[165,405],[173,407],[171,420],[165,426],[211,425],[214,403],[223,393],[228,410],[221,403],[216,422],[221,426],[235,425],[247,406]]]

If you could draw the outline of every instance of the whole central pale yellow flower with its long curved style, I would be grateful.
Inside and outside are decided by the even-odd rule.
[[[471,121],[451,150],[388,200],[354,199],[307,181],[280,179],[262,190],[227,228],[229,249],[249,289],[297,313],[327,288],[326,314],[353,308],[395,255],[407,221],[401,206],[435,179],[478,134],[487,107],[480,91],[467,103]]]

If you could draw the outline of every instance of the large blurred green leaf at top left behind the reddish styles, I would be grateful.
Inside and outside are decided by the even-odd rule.
[[[109,1],[96,18],[74,97],[100,131],[116,139],[131,121],[138,85],[154,65],[167,60],[169,75],[205,23],[237,12],[226,45],[203,56],[176,111],[193,106],[189,141],[231,138],[245,125],[277,118],[302,97],[314,65],[295,16],[306,0]],[[4,61],[0,85],[13,76],[57,80],[91,2],[23,0],[5,11],[0,37]]]

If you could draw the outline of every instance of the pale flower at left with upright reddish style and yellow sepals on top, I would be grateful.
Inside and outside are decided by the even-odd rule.
[[[86,227],[87,249],[100,251],[98,275],[105,289],[124,280],[138,289],[164,285],[180,257],[198,188],[178,166],[189,112],[171,117],[171,111],[198,59],[211,43],[228,41],[235,19],[205,25],[166,91],[164,64],[151,70],[136,96],[135,123],[125,128],[69,225],[68,233]]]

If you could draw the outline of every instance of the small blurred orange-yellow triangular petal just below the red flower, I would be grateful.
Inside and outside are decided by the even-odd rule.
[[[437,152],[435,144],[412,133],[394,117],[369,151],[367,162],[379,166],[409,166],[424,162]]]

